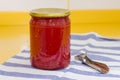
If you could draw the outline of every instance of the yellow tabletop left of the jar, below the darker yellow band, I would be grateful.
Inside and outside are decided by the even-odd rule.
[[[28,26],[0,26],[0,64],[28,44]]]

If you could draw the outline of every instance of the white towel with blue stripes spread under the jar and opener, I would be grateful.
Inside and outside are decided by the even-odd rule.
[[[80,51],[87,51],[92,60],[107,64],[108,74],[81,64],[74,59]],[[31,67],[29,48],[0,65],[0,80],[120,80],[120,40],[96,33],[71,35],[71,63],[62,70],[40,70]]]

